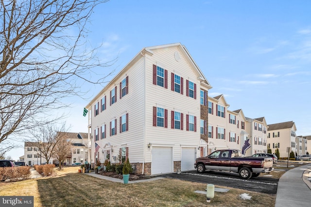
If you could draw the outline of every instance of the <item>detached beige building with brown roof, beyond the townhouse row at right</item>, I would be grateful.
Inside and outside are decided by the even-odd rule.
[[[291,147],[291,151],[298,154],[296,131],[293,121],[268,125],[268,148],[271,148],[272,153],[275,153],[278,148],[280,158],[288,157],[287,147]]]

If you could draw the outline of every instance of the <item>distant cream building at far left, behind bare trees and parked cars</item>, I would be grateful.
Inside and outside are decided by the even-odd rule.
[[[40,165],[47,162],[47,160],[42,157],[42,154],[36,147],[38,144],[35,142],[25,142],[24,144],[24,162],[26,165],[34,166]],[[50,164],[53,163],[53,160],[50,159]]]

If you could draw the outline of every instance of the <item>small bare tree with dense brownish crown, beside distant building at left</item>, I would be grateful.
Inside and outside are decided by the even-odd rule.
[[[71,157],[72,141],[69,140],[69,137],[66,132],[58,132],[57,139],[58,142],[54,147],[53,158],[58,160],[59,169],[62,169],[62,164],[65,159]]]

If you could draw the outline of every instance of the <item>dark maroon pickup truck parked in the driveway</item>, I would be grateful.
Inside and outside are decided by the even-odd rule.
[[[274,170],[273,159],[268,157],[242,157],[239,150],[217,150],[207,157],[195,159],[194,168],[198,173],[205,170],[230,171],[239,173],[242,179],[257,177],[260,173]]]

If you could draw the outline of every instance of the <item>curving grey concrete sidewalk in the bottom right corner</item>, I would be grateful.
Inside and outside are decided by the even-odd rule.
[[[311,164],[287,171],[278,180],[275,207],[311,205]]]

